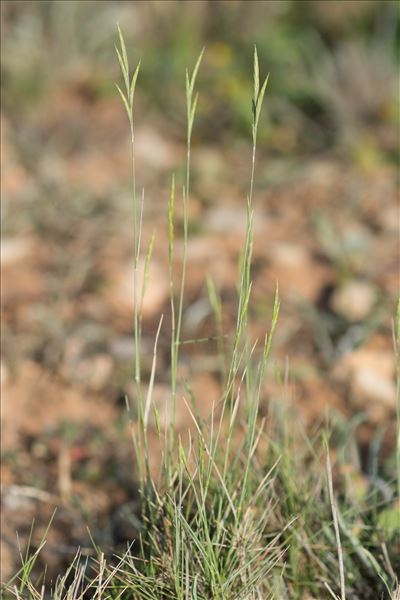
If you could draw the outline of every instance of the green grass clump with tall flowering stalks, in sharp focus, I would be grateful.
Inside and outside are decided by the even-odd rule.
[[[5,597],[38,600],[46,597],[54,600],[396,598],[400,570],[398,462],[388,460],[386,471],[367,482],[354,451],[352,428],[341,424],[340,419],[332,427],[329,444],[324,444],[321,431],[306,435],[293,415],[281,406],[271,404],[268,417],[260,416],[263,382],[279,314],[279,294],[277,290],[271,324],[263,343],[253,343],[248,327],[252,288],[252,197],[257,130],[268,82],[268,77],[260,81],[256,49],[247,223],[239,269],[236,330],[229,348],[219,331],[223,393],[206,423],[196,416],[190,394],[187,399],[183,398],[193,420],[188,442],[183,443],[175,433],[174,416],[183,341],[191,136],[202,54],[193,72],[186,73],[184,252],[178,290],[174,285],[174,178],[168,205],[172,323],[171,393],[166,399],[169,423],[161,424],[152,402],[162,317],[154,344],[150,381],[147,393],[143,393],[140,307],[146,291],[153,241],[145,252],[145,276],[139,290],[144,193],[139,198],[136,190],[133,110],[139,66],[131,73],[121,32],[117,54],[124,82],[123,89],[118,87],[118,91],[128,116],[132,142],[136,402],[132,410],[129,409],[131,414],[136,414],[133,439],[141,492],[141,510],[136,519],[138,535],[121,557],[106,559],[98,549],[97,559],[83,562],[78,554],[70,569],[54,583],[47,583],[45,578],[36,581],[32,572],[38,553],[26,555],[20,572],[4,587]],[[221,301],[213,283],[208,284],[210,303],[220,329]],[[284,386],[283,383],[283,390]],[[151,477],[149,466],[148,430],[152,414],[162,448],[157,481]]]

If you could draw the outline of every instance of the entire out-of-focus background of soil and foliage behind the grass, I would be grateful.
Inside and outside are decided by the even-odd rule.
[[[131,64],[144,242],[144,378],[159,315],[155,400],[168,394],[167,203],[185,167],[184,75],[206,47],[193,133],[183,337],[216,333],[206,277],[233,329],[251,167],[252,54],[270,72],[255,186],[252,328],[281,316],[268,403],[285,392],[312,426],[331,414],[359,460],[394,472],[398,296],[399,11],[392,1],[3,1],[3,577],[59,506],[43,560],[58,573],[86,525],[103,547],[136,502],[125,395],[133,392],[129,132],[115,89],[116,24]],[[177,228],[182,203],[177,199]],[[182,245],[177,240],[177,269]],[[207,417],[220,393],[215,342],[183,347],[181,375]],[[187,415],[178,408],[177,427]],[[154,453],[157,464],[157,452]],[[380,462],[380,456],[387,460]],[[379,463],[379,467],[376,465]],[[126,525],[123,527],[126,529]],[[129,533],[129,532],[128,532]],[[126,531],[124,533],[126,535]]]

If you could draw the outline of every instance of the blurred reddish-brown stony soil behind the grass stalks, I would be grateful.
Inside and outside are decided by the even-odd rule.
[[[90,548],[86,525],[104,547],[118,544],[118,507],[137,498],[124,401],[125,394],[133,397],[134,352],[124,115],[117,101],[92,103],[79,91],[61,90],[25,127],[17,140],[14,124],[3,117],[4,578],[18,562],[15,531],[24,544],[33,517],[37,545],[60,507],[42,559],[57,573],[77,544]],[[138,180],[146,186],[144,244],[157,229],[143,307],[143,371],[146,378],[164,313],[155,386],[161,412],[169,379],[169,174],[185,155],[166,131],[157,121],[137,129]],[[205,285],[211,275],[222,295],[229,343],[249,158],[249,148],[194,144],[185,339],[215,334]],[[394,167],[365,169],[332,156],[282,165],[261,147],[257,172],[254,339],[269,327],[277,281],[282,307],[265,402],[282,396],[273,371],[284,370],[289,357],[290,397],[301,417],[322,419],[330,408],[350,418],[364,410],[359,436],[367,443],[395,412]],[[177,203],[181,229],[179,198]],[[180,239],[176,256],[179,276]],[[354,282],[361,287],[352,294]],[[182,375],[204,417],[219,398],[217,365],[214,342],[184,346]],[[181,431],[190,424],[183,406],[179,400]],[[388,444],[390,439],[389,431]],[[156,450],[153,464],[156,470]]]

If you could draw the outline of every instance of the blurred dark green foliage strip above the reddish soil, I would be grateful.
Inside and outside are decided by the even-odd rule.
[[[119,21],[132,56],[143,58],[146,106],[171,125],[184,115],[182,73],[206,46],[201,135],[247,137],[251,39],[271,72],[262,131],[271,151],[320,152],[341,142],[394,159],[395,2],[22,1],[4,2],[2,12],[6,108],[34,110],[51,86],[66,82],[93,100],[114,95]]]

